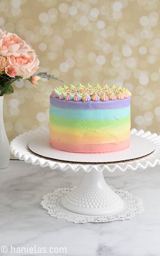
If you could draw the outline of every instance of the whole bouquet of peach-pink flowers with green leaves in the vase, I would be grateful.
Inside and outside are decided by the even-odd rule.
[[[47,72],[34,75],[38,66],[36,52],[30,45],[16,34],[0,29],[0,96],[12,93],[11,84],[20,78],[28,79],[35,87],[41,78],[63,82]]]

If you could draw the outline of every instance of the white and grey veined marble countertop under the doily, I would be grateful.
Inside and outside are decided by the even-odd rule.
[[[131,220],[74,224],[50,217],[40,205],[42,196],[59,187],[72,188],[82,175],[19,160],[0,170],[0,255],[159,256],[160,166],[104,173],[108,185],[142,198],[145,210]],[[66,247],[67,253],[14,253],[11,245]]]

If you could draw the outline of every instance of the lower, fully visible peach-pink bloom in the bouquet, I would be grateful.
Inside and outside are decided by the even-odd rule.
[[[33,51],[21,54],[20,56],[7,56],[6,64],[7,66],[16,67],[19,76],[26,79],[36,72],[39,60]]]

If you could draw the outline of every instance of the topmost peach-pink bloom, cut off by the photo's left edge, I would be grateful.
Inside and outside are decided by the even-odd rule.
[[[0,31],[0,55],[1,56],[20,56],[29,51],[29,46],[16,34]]]

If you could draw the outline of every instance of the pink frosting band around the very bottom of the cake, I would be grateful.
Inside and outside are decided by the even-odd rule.
[[[130,139],[124,140],[118,144],[108,143],[108,144],[85,144],[85,145],[75,145],[66,144],[61,141],[50,139],[50,145],[58,150],[63,150],[72,153],[86,153],[86,154],[100,154],[109,153],[119,150],[124,150],[130,146]]]

